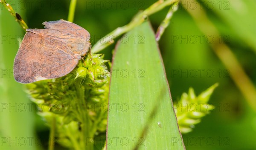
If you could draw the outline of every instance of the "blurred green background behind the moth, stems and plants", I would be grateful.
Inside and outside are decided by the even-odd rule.
[[[29,28],[43,29],[44,21],[67,20],[69,0],[7,0]],[[94,45],[103,36],[129,23],[153,0],[78,0],[74,23],[91,35]],[[232,49],[239,63],[256,84],[256,1],[199,1],[209,19]],[[209,103],[215,110],[191,133],[183,134],[187,149],[256,149],[256,113],[230,78],[206,37],[186,12],[192,3],[180,6],[159,42],[173,101],[193,87],[199,94],[218,82]],[[154,30],[169,8],[149,17]],[[48,127],[36,114],[37,107],[13,78],[13,61],[25,32],[1,5],[0,9],[0,136],[1,149],[47,149]],[[200,37],[202,40],[200,40]],[[197,41],[195,41],[197,40]],[[219,39],[215,39],[219,40]],[[114,45],[102,53],[111,60]],[[154,68],[152,68],[154,69]],[[255,100],[254,100],[255,101]]]

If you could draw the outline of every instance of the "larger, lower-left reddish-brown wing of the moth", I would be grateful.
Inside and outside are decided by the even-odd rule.
[[[67,49],[62,41],[26,32],[14,61],[15,80],[31,83],[67,75],[81,59]]]

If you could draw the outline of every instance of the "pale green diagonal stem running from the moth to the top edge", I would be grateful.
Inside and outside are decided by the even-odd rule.
[[[107,46],[114,43],[114,38],[119,37],[120,35],[124,34],[125,32],[130,31],[131,29],[135,28],[136,26],[139,26],[145,18],[147,18],[149,15],[154,14],[155,12],[158,12],[165,8],[166,6],[170,6],[174,3],[177,3],[179,0],[158,0],[156,3],[152,4],[148,9],[145,9],[143,12],[137,14],[133,20],[131,20],[130,23],[128,23],[125,26],[116,28],[112,32],[110,32],[108,35],[100,39],[91,49],[92,53],[97,53],[105,49]],[[108,39],[105,41],[105,39]],[[102,42],[104,41],[104,42]]]

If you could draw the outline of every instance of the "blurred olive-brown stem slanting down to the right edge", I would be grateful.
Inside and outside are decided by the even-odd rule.
[[[185,2],[185,0],[181,0],[181,2]],[[191,1],[189,1],[190,3]],[[207,18],[206,12],[199,7],[200,4],[194,0],[194,3],[197,4],[196,9],[186,9],[187,12],[193,17],[195,23],[197,23],[199,29],[204,33],[204,35],[212,35],[214,39],[218,39],[219,32],[212,24],[212,22]],[[245,99],[247,100],[248,104],[256,110],[256,95],[255,95],[255,87],[253,83],[250,81],[250,78],[244,72],[244,69],[239,64],[236,59],[236,56],[233,54],[231,49],[224,44],[223,41],[216,42],[210,44],[212,47],[213,52],[218,56],[218,58],[222,61],[222,63],[226,66],[227,69],[230,70],[230,76],[235,82],[236,86],[240,89],[241,93],[244,95]]]

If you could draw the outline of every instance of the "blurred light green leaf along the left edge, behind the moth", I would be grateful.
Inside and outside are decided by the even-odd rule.
[[[5,40],[21,35],[23,31],[9,12],[0,6],[0,149],[35,150],[40,144],[36,143],[35,131],[32,130],[35,128],[35,110],[30,107],[31,101],[23,92],[22,85],[12,76],[13,60],[19,43],[17,40]],[[25,14],[25,11],[19,13]]]

